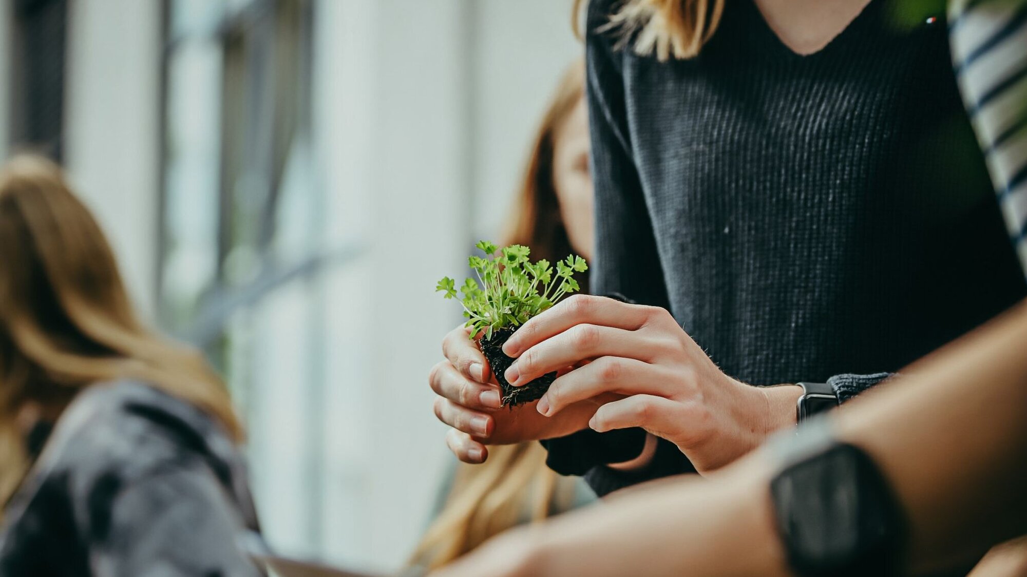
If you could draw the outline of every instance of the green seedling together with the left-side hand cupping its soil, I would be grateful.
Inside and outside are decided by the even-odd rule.
[[[559,419],[546,418],[535,411],[534,401],[556,374],[543,376],[531,386],[512,387],[497,380],[492,371],[497,367],[501,374],[512,360],[502,354],[500,347],[516,326],[551,307],[563,295],[577,291],[573,274],[587,268],[584,260],[570,256],[554,269],[544,260],[531,263],[524,246],[507,246],[492,259],[489,257],[497,254],[497,246],[483,241],[478,247],[486,257],[470,257],[468,261],[478,281],[467,279],[460,287],[468,321],[446,336],[446,358],[432,368],[428,377],[439,394],[435,415],[453,427],[447,443],[461,460],[470,463],[487,457],[484,441],[519,443],[585,428],[600,402],[588,399],[569,408]],[[443,278],[436,290],[446,298],[457,297],[456,282],[451,278]],[[482,347],[479,342],[483,342]],[[491,359],[486,358],[482,348],[489,351]],[[510,409],[498,411],[504,405]]]

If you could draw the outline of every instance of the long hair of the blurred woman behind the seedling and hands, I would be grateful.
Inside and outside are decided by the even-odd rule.
[[[536,130],[503,235],[504,244],[527,245],[532,257],[550,262],[573,252],[560,218],[553,156],[560,129],[583,98],[584,63],[577,60],[564,72]],[[545,455],[538,443],[522,443],[490,447],[484,464],[460,464],[445,507],[410,563],[435,569],[526,518],[542,521],[570,508],[576,482],[550,470]]]

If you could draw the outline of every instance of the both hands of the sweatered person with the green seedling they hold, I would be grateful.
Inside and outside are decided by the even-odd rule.
[[[795,424],[798,387],[758,388],[728,377],[665,309],[582,295],[559,304],[539,300],[527,286],[536,280],[551,286],[553,279],[544,270],[526,271],[527,257],[518,247],[503,249],[500,265],[512,270],[471,257],[471,267],[489,279],[483,280],[487,288],[465,283],[467,329],[447,337],[447,360],[432,371],[431,386],[441,395],[435,415],[456,429],[448,443],[461,459],[484,460],[486,440],[562,436],[585,426],[601,432],[642,427],[677,445],[706,472]],[[569,258],[558,270],[566,273],[573,263]],[[454,284],[444,278],[439,290],[454,297]],[[490,293],[490,286],[500,290]],[[468,337],[483,334],[479,349]],[[498,401],[490,382],[501,385]],[[516,406],[536,398],[536,415],[495,411],[504,399]]]

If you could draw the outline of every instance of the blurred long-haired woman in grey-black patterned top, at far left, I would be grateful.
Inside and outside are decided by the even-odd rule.
[[[242,429],[139,321],[60,168],[0,171],[0,575],[258,575]]]

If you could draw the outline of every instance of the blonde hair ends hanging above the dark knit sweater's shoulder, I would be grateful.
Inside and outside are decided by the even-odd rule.
[[[579,15],[588,0],[574,0],[573,27],[581,36]],[[615,30],[624,42],[634,36],[635,53],[687,60],[713,37],[724,13],[725,0],[626,0],[610,14],[603,30]]]

